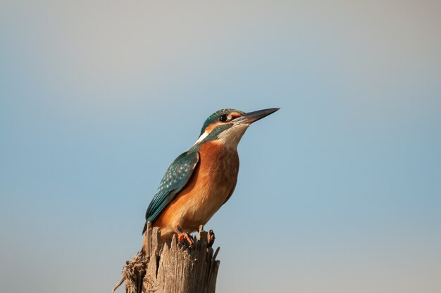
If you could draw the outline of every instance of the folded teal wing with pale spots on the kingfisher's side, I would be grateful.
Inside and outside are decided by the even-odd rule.
[[[199,152],[190,150],[180,154],[171,163],[159,184],[158,191],[151,200],[149,208],[147,208],[146,223],[153,222],[162,213],[164,208],[175,199],[178,192],[187,185],[198,162]],[[144,225],[142,233],[145,230],[146,226]]]

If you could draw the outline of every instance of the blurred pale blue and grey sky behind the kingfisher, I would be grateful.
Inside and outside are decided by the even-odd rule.
[[[1,291],[110,292],[206,117],[280,107],[206,225],[217,292],[441,292],[440,27],[440,1],[1,0]]]

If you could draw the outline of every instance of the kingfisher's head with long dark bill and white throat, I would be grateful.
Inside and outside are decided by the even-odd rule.
[[[249,113],[235,109],[216,111],[205,120],[201,135],[195,144],[218,142],[235,148],[251,123],[278,111],[278,109],[269,108]]]

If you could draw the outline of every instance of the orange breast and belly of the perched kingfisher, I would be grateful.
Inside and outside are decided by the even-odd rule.
[[[163,237],[175,227],[193,232],[205,225],[232,194],[239,172],[235,149],[207,142],[199,149],[199,163],[187,185],[155,220]]]

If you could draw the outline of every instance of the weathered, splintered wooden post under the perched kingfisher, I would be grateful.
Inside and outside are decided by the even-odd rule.
[[[127,261],[123,278],[126,293],[214,293],[220,261],[209,246],[210,232],[199,228],[192,247],[178,243],[176,235],[161,244],[161,230],[147,224],[147,254]]]

